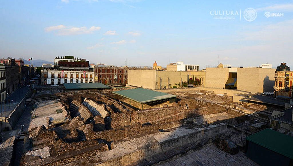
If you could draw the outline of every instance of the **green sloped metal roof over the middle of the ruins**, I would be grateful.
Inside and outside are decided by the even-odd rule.
[[[148,103],[151,101],[158,101],[177,97],[173,94],[167,94],[143,88],[115,91],[112,93],[137,101],[139,103]]]

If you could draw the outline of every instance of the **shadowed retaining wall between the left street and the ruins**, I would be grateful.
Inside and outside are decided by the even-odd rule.
[[[7,119],[8,122],[10,124],[10,126],[13,129],[17,122],[18,119],[21,117],[21,115],[23,114],[23,111],[25,110],[26,106],[25,106],[25,100],[32,94],[32,92],[29,90],[25,96],[21,99],[21,101],[16,105],[15,109],[13,109],[10,114],[8,115]]]

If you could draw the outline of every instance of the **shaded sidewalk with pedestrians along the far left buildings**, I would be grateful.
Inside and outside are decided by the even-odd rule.
[[[25,94],[30,90],[28,87],[21,87],[16,89],[11,95],[9,95],[6,99],[6,104],[2,101],[0,102],[0,116],[3,117],[4,115],[8,116],[9,113],[16,107],[19,101],[25,96]],[[10,104],[8,103],[10,100]],[[13,100],[11,104],[11,100]],[[10,105],[10,106],[9,106]]]

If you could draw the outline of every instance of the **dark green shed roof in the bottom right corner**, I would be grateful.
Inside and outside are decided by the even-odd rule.
[[[246,140],[293,159],[293,137],[271,129],[264,129],[246,137]]]

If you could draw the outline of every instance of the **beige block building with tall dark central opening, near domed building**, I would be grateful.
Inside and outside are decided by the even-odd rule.
[[[252,93],[273,92],[275,69],[206,68],[206,87],[238,89]]]

